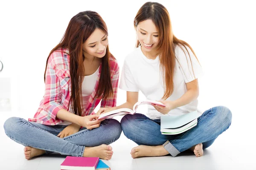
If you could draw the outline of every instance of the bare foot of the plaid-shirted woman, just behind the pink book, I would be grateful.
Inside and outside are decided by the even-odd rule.
[[[100,159],[110,160],[112,155],[112,147],[102,144],[96,147],[85,147],[83,157],[99,157]]]

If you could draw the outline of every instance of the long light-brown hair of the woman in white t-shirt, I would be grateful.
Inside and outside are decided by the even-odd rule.
[[[172,32],[172,25],[167,9],[160,3],[147,2],[145,3],[137,12],[136,17],[134,18],[134,28],[137,28],[137,25],[144,20],[152,20],[154,25],[157,28],[159,33],[159,43],[157,45],[157,51],[160,51],[159,59],[160,66],[162,69],[163,79],[164,79],[164,95],[163,99],[167,99],[172,95],[174,89],[173,77],[174,77],[174,68],[175,68],[175,45],[183,46],[187,53],[189,54],[187,47],[195,55],[195,52],[190,47],[188,43],[183,40],[177,39]],[[137,40],[136,47],[139,47],[141,44]],[[183,48],[181,48],[183,50]],[[183,50],[184,51],[184,50]],[[185,51],[184,51],[185,53]],[[186,54],[186,53],[185,53]],[[196,56],[196,55],[195,55]],[[177,58],[176,58],[177,59]],[[191,58],[189,55],[191,62]],[[192,65],[192,62],[191,62]],[[193,69],[193,66],[192,66]],[[194,74],[194,71],[193,71]],[[195,74],[194,74],[195,76]]]

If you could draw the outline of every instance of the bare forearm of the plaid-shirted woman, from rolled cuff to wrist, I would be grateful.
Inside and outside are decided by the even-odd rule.
[[[81,126],[80,123],[79,123],[79,119],[80,119],[81,116],[70,113],[70,112],[66,111],[65,109],[59,110],[56,117],[58,119],[61,119],[61,120],[67,121],[67,122],[72,122],[76,125]]]

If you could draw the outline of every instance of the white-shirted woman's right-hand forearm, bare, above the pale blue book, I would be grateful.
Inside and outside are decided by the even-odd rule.
[[[175,108],[178,108],[183,105],[187,105],[190,102],[197,99],[199,96],[199,91],[197,90],[188,90],[185,94],[183,94],[179,99],[173,101]]]

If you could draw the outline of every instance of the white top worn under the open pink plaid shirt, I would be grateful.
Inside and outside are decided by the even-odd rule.
[[[83,99],[82,105],[83,105],[83,107],[86,106],[86,104],[90,98],[90,95],[93,93],[93,90],[95,88],[96,81],[98,78],[98,74],[99,74],[99,68],[93,74],[91,74],[89,76],[84,76],[84,80],[82,82],[82,99]],[[70,108],[69,112],[73,113],[73,109]],[[71,124],[71,122],[64,121],[58,125],[70,125],[70,124]]]

